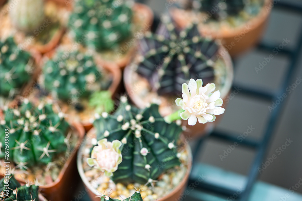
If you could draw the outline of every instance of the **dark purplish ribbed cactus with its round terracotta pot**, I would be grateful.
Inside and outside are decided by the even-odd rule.
[[[178,110],[172,100],[182,96],[182,83],[199,78],[203,86],[214,83],[216,89],[210,87],[208,93],[220,90],[225,100],[233,81],[229,54],[214,40],[200,36],[196,24],[178,30],[167,16],[155,34],[147,33],[142,39],[136,58],[124,70],[125,88],[134,104],[144,108],[159,102],[162,116]],[[184,133],[191,137],[206,134],[217,121],[205,123],[188,127]],[[186,121],[181,124],[188,125]]]

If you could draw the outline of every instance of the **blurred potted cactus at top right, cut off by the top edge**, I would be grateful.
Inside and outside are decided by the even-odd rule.
[[[266,28],[272,0],[178,0],[171,15],[179,27],[195,22],[204,36],[222,39],[231,56],[254,46]]]

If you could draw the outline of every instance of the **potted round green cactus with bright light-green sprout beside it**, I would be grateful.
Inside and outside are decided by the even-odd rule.
[[[120,84],[121,72],[114,64],[99,64],[92,51],[77,47],[59,46],[45,57],[39,83],[52,98],[59,100],[69,118],[80,121],[89,130],[95,113],[114,109],[111,97]]]

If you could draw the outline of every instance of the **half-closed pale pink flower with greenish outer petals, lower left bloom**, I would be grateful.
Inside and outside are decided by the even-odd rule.
[[[120,146],[122,143],[119,140],[107,142],[104,138],[98,141],[98,146],[93,147],[91,158],[87,159],[90,167],[95,166],[98,170],[104,172],[106,177],[111,177],[118,165],[122,162],[122,153]]]

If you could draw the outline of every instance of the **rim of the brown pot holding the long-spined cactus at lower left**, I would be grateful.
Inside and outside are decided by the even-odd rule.
[[[56,178],[55,181],[53,181],[51,184],[47,184],[47,185],[41,185],[39,186],[40,189],[44,189],[44,188],[52,188],[54,186],[56,186],[57,184],[60,183],[60,181],[62,181],[62,177],[66,172],[66,169],[68,168],[68,166],[71,164],[72,158],[76,155],[77,151],[83,141],[84,135],[85,135],[85,130],[84,127],[82,126],[82,124],[73,121],[70,124],[72,127],[75,128],[75,130],[77,130],[77,134],[79,136],[78,142],[76,143],[75,147],[74,147],[74,152],[72,153],[72,155],[70,155],[69,159],[65,162],[65,164],[63,165],[58,177]],[[4,174],[0,173],[0,176],[4,176]],[[24,181],[17,179],[17,181],[21,184],[24,184]]]

